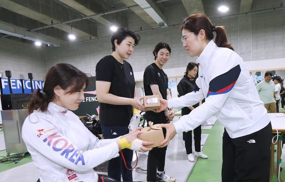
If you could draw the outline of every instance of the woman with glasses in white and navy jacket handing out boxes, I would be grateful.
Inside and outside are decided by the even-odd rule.
[[[160,124],[167,129],[163,144],[215,115],[225,126],[222,181],[269,181],[272,127],[242,58],[227,43],[224,28],[215,27],[203,14],[186,17],[181,30],[188,55],[198,56],[200,90],[161,100],[158,112],[193,106],[203,98],[205,102],[173,124]]]

